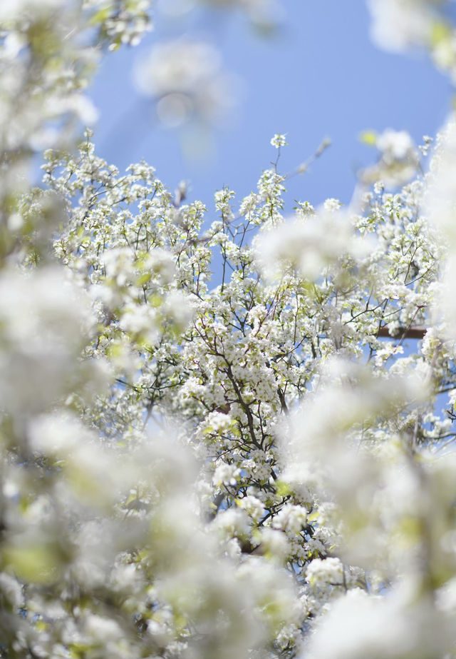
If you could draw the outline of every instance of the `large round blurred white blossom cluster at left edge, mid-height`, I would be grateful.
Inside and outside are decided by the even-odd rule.
[[[1,407],[43,411],[80,377],[77,361],[93,330],[88,299],[59,268],[33,276],[5,269],[0,299]]]

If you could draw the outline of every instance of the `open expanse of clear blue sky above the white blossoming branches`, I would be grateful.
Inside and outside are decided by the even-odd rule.
[[[237,116],[217,129],[210,156],[185,159],[178,132],[157,126],[150,99],[133,84],[135,61],[157,39],[182,34],[188,26],[171,22],[159,23],[140,46],[103,61],[90,93],[100,111],[98,155],[121,170],[143,158],[167,186],[190,181],[190,198],[212,207],[212,195],[222,186],[239,199],[255,188],[276,156],[269,145],[274,133],[286,133],[289,141],[281,171],[300,164],[328,136],[331,148],[311,171],[289,181],[290,201],[316,205],[327,197],[350,200],[356,170],[375,157],[358,141],[364,129],[406,129],[418,141],[435,134],[450,110],[450,83],[424,55],[377,49],[363,0],[283,4],[286,18],[272,39],[261,39],[239,15],[213,11],[193,20],[190,34],[212,41],[227,69],[245,81]]]

